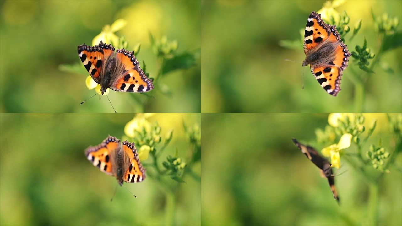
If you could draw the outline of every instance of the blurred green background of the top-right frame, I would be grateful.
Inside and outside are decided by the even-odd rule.
[[[350,58],[337,97],[325,93],[310,67],[284,61],[304,60],[301,42],[299,49],[281,47],[279,42],[300,40],[300,29],[304,31],[308,15],[320,10],[325,2],[203,1],[202,112],[400,112],[400,47],[382,54],[375,74],[363,72]],[[356,37],[349,41],[350,34],[346,36],[349,51],[355,51],[357,44],[363,45],[366,38],[371,51],[378,53],[381,35],[374,30],[371,8],[377,16],[388,13],[389,18],[402,19],[400,1],[346,1],[336,7],[339,13],[347,11],[351,31],[362,19]],[[364,86],[354,84],[353,71],[365,81]]]

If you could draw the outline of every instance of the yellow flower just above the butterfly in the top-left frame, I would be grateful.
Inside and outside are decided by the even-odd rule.
[[[127,24],[127,21],[124,19],[118,19],[113,22],[112,25],[105,25],[103,27],[102,32],[99,35],[96,35],[92,40],[92,46],[98,45],[100,41],[106,44],[112,44],[117,47],[119,45],[119,37],[114,34],[114,32],[119,31]]]

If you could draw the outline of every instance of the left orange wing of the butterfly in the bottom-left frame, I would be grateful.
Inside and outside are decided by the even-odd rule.
[[[86,158],[103,173],[113,176],[111,156],[119,146],[120,140],[109,136],[98,146],[90,146],[85,150]]]

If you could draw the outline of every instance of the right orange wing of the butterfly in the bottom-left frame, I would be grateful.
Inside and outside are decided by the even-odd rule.
[[[122,146],[125,154],[125,161],[127,158],[127,168],[125,173],[123,174],[123,181],[127,183],[137,183],[144,181],[145,169],[142,167],[142,164],[139,161],[138,153],[135,149],[134,143],[123,141]]]

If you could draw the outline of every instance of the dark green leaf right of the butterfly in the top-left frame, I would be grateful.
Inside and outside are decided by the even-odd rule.
[[[175,55],[163,62],[162,73],[166,74],[174,70],[187,69],[195,65],[197,53],[185,52]]]

